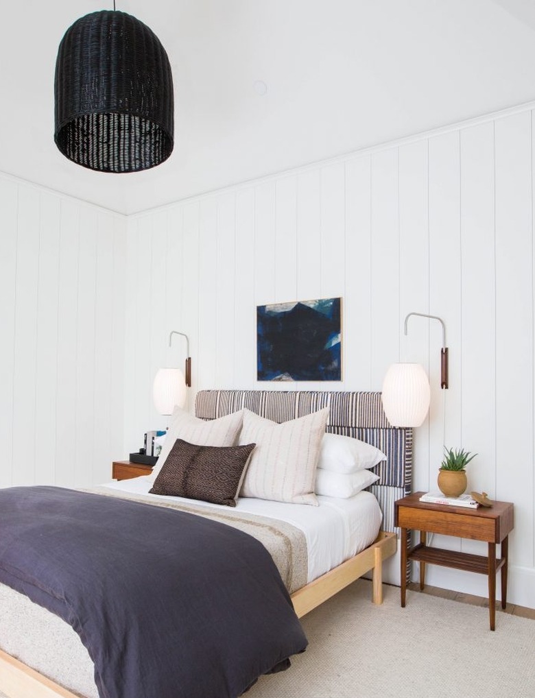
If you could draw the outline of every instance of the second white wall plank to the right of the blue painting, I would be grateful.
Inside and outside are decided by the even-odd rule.
[[[372,390],[400,350],[397,149],[372,156]]]

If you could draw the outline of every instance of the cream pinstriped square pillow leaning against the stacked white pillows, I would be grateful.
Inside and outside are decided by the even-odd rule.
[[[240,444],[256,443],[242,484],[242,497],[318,506],[316,466],[329,408],[272,422],[244,410]]]

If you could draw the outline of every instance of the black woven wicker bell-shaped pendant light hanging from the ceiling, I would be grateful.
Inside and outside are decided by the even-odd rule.
[[[138,172],[173,151],[173,77],[149,27],[115,10],[77,20],[56,61],[54,141],[78,165]]]

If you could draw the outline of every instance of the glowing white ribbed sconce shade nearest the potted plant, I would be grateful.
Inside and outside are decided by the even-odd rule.
[[[383,409],[392,426],[423,424],[431,399],[429,379],[420,364],[392,364],[383,380]]]

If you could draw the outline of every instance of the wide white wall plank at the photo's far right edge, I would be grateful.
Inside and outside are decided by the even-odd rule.
[[[495,124],[496,490],[514,501],[512,550],[533,564],[532,130],[528,112]],[[524,487],[526,485],[526,487]]]

